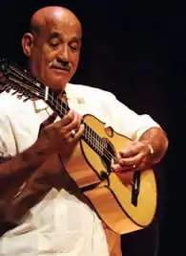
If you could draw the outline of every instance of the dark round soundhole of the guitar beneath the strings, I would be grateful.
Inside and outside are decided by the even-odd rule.
[[[101,173],[101,178],[106,179],[112,173],[112,164],[115,162],[116,156],[113,144],[106,138],[103,138],[103,141],[104,150],[101,158],[106,171]]]

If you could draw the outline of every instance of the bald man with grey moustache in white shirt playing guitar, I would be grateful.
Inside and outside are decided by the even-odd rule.
[[[162,128],[149,115],[134,113],[110,92],[70,83],[81,37],[81,24],[72,12],[47,7],[32,15],[31,31],[22,38],[32,75],[74,109],[62,120],[54,121],[56,116],[42,100],[23,103],[9,93],[0,95],[0,213],[2,223],[14,224],[0,239],[0,255],[121,255],[119,235],[107,227],[104,231],[63,172],[84,130],[84,114],[93,114],[133,140],[118,152],[121,170],[149,167],[167,150]],[[49,116],[54,122],[39,132]]]

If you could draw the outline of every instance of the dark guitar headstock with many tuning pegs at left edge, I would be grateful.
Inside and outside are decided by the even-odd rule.
[[[12,94],[25,97],[24,101],[35,97],[45,99],[45,86],[29,71],[6,58],[0,59],[0,92],[3,91],[13,91]]]

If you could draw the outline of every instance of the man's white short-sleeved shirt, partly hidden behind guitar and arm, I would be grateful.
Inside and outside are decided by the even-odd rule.
[[[106,127],[137,140],[158,127],[149,115],[137,115],[114,95],[101,89],[67,85],[70,108],[93,114]],[[23,103],[14,95],[0,95],[0,156],[16,155],[35,142],[38,129],[52,109],[42,100]],[[0,238],[0,256],[108,256],[101,221],[93,210],[64,189],[54,188],[16,228]]]

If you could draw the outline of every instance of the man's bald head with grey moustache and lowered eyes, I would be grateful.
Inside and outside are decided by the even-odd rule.
[[[31,73],[56,90],[64,90],[80,56],[82,29],[78,18],[62,7],[45,7],[31,17],[31,31],[22,38]]]

